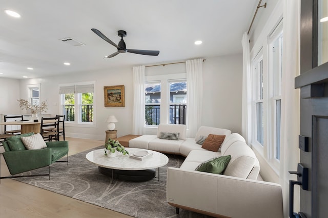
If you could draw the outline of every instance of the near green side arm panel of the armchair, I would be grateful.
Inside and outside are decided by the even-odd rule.
[[[11,175],[51,164],[51,149],[9,151],[3,155]]]

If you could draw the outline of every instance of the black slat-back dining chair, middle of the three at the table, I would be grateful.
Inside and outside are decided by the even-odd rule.
[[[45,141],[59,141],[59,117],[42,117],[40,134]]]

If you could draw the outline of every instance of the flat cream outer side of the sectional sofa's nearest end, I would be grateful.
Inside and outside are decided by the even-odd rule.
[[[167,201],[216,217],[283,217],[281,186],[169,167]]]

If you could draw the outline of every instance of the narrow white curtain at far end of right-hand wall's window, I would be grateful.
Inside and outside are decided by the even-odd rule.
[[[247,32],[242,36],[242,105],[241,105],[241,135],[247,144],[251,144],[251,60],[250,43]]]

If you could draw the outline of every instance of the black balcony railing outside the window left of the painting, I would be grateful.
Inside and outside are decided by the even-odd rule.
[[[65,120],[75,121],[74,105],[65,105]],[[93,105],[81,106],[81,122],[93,122]]]

